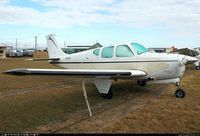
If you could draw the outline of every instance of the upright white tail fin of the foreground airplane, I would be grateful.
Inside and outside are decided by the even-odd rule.
[[[49,58],[61,58],[63,56],[67,56],[67,54],[64,53],[62,49],[58,46],[58,42],[55,39],[55,35],[47,35],[46,39]]]

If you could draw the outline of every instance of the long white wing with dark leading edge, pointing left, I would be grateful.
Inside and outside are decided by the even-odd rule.
[[[141,70],[85,70],[85,69],[11,69],[5,74],[12,75],[69,75],[69,76],[132,76],[143,77],[146,72]]]

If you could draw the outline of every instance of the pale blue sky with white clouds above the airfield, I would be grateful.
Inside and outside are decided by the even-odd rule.
[[[67,44],[200,47],[199,7],[200,0],[0,0],[0,43],[46,43],[54,33]]]

